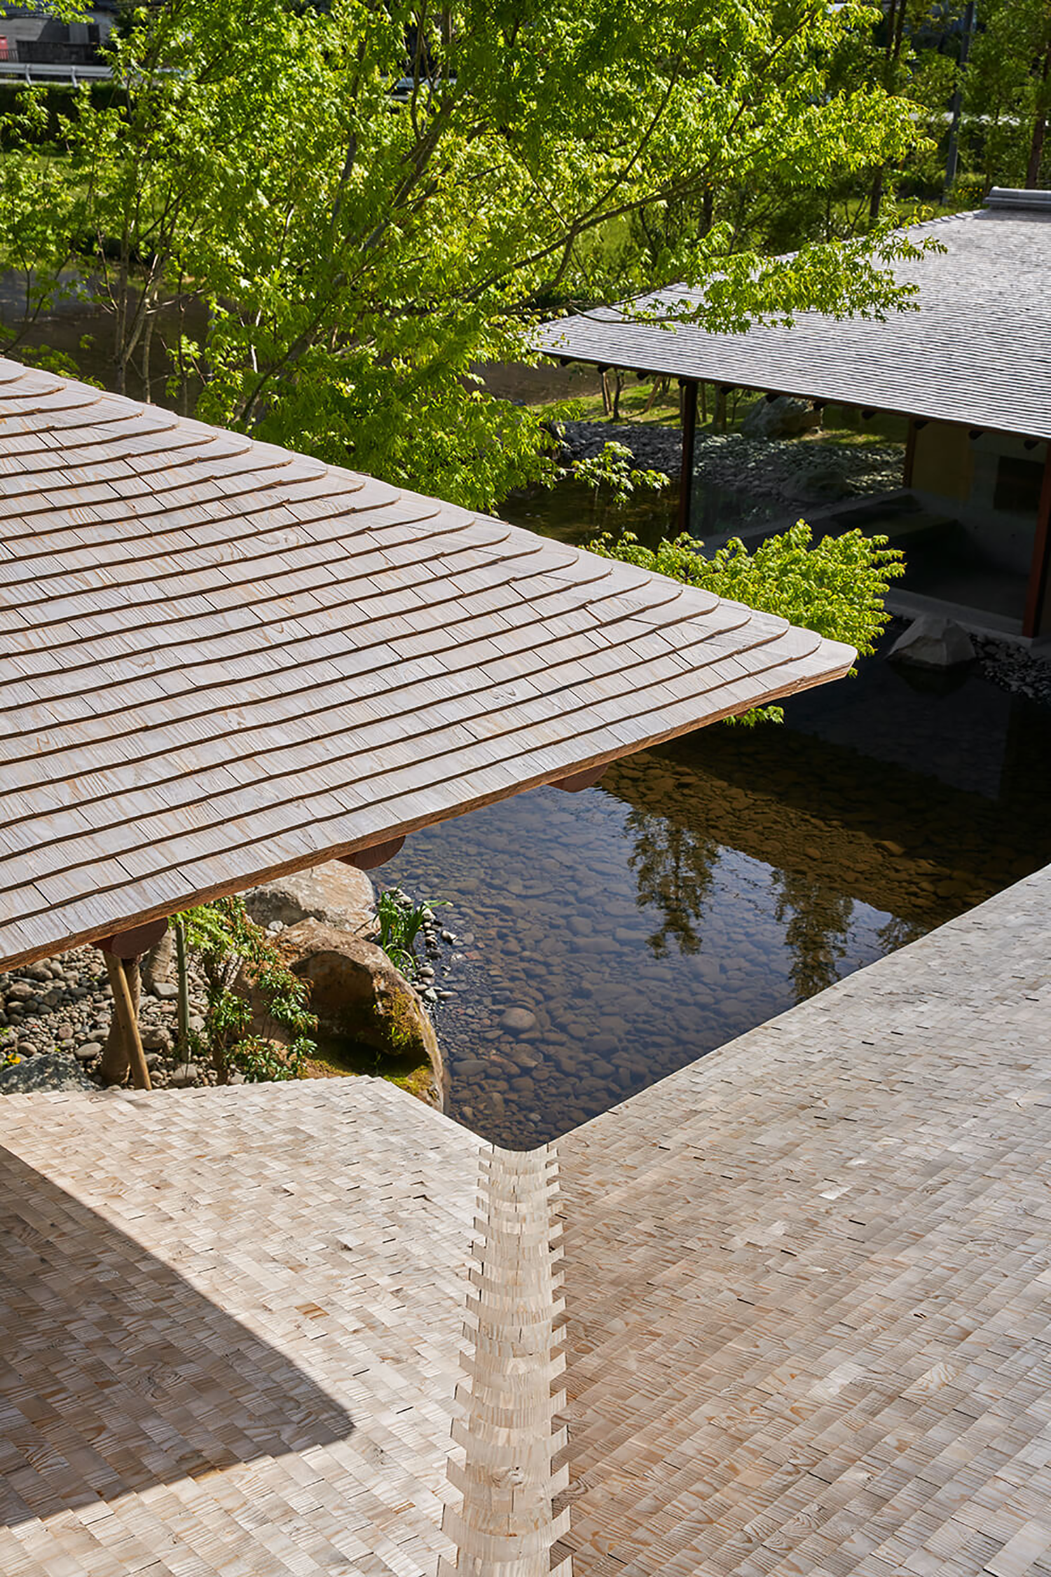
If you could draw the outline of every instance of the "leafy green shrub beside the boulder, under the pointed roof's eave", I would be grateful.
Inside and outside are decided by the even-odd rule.
[[[317,1019],[307,1008],[307,984],[292,973],[269,934],[249,919],[240,897],[200,904],[178,919],[205,978],[208,1000],[205,1028],[191,1035],[192,1049],[211,1060],[219,1083],[227,1083],[235,1069],[249,1083],[299,1077],[314,1050],[310,1035]],[[241,990],[235,989],[238,976]],[[265,1012],[288,1033],[287,1050],[277,1052],[252,1030],[246,986],[255,989]]]

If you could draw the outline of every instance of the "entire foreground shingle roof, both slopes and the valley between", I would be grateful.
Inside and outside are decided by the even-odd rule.
[[[3,1577],[1051,1577],[1049,960],[1051,869],[528,1154],[0,1101]]]

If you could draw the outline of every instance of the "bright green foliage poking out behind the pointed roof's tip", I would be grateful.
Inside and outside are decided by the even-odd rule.
[[[651,550],[624,531],[619,538],[602,535],[592,552],[703,587],[764,613],[780,613],[791,624],[854,647],[862,656],[875,650],[890,617],[884,609],[890,580],[904,574],[903,555],[887,546],[886,536],[854,530],[815,542],[805,520],[778,536],[767,536],[752,554],[737,536],[711,558],[701,547],[692,536],[678,536]],[[759,718],[780,721],[782,710],[753,708],[736,721],[756,722]]]

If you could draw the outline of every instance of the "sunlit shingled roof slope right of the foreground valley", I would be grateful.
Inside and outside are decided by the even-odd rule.
[[[558,1153],[575,1577],[1051,1577],[1051,871]]]

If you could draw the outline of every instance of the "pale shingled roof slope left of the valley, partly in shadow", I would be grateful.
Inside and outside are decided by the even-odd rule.
[[[0,1101],[3,1577],[433,1577],[481,1142],[381,1080]]]

